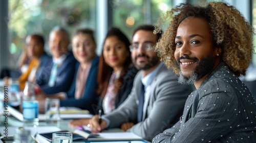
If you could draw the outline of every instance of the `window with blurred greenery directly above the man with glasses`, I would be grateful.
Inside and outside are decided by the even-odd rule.
[[[139,25],[155,25],[160,14],[172,8],[172,1],[116,0],[111,6],[113,26],[120,28],[131,39],[133,30]]]

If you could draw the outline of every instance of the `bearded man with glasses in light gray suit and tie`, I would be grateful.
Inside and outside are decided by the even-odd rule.
[[[151,140],[156,134],[172,126],[182,113],[191,86],[178,84],[175,74],[160,61],[152,47],[161,34],[154,34],[154,26],[143,25],[133,34],[132,61],[141,69],[128,98],[115,110],[90,121],[93,131],[118,128]]]

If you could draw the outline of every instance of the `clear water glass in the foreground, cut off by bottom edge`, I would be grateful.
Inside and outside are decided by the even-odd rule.
[[[73,135],[71,132],[52,133],[52,143],[72,143]]]

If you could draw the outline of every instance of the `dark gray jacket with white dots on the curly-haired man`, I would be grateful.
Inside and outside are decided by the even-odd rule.
[[[191,93],[183,116],[152,142],[255,142],[256,105],[248,88],[221,63]]]

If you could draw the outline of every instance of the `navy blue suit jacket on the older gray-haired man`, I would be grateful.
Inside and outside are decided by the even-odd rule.
[[[49,60],[37,71],[36,83],[46,94],[68,91],[75,74],[75,63],[76,59],[74,58],[73,53],[71,51],[68,52],[66,59],[62,62],[60,67],[58,67],[55,85],[50,87],[48,86],[48,82],[51,75],[53,60]]]

